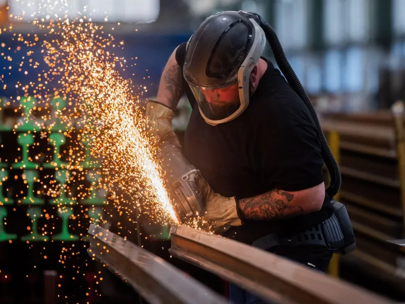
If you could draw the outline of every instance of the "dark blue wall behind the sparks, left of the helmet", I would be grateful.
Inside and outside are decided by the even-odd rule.
[[[120,71],[121,75],[125,79],[132,79],[134,85],[142,85],[148,87],[147,96],[153,96],[157,92],[158,82],[160,74],[165,67],[165,64],[175,49],[180,43],[187,41],[191,32],[185,33],[173,33],[173,34],[156,34],[156,33],[132,33],[132,34],[117,34],[113,33],[115,41],[120,42],[124,40],[124,49],[111,48],[111,50],[119,57],[125,57],[128,61],[129,67],[126,71]],[[31,34],[31,37],[33,34]],[[4,84],[7,84],[7,89],[3,90],[3,84],[0,86],[0,95],[3,96],[16,96],[22,95],[23,91],[19,91],[15,88],[17,81],[24,84],[29,81],[36,82],[36,75],[42,72],[43,69],[49,70],[48,65],[44,62],[44,54],[41,53],[41,44],[38,47],[24,47],[23,43],[18,42],[16,39],[12,40],[12,35],[2,34],[0,35],[0,45],[5,43],[5,47],[0,47],[0,53],[5,53],[5,56],[10,55],[13,60],[10,62],[4,59],[4,56],[0,58],[0,74],[4,75]],[[48,35],[47,40],[50,39]],[[39,36],[39,41],[42,41],[44,36]],[[16,48],[22,47],[20,51],[16,51]],[[11,47],[11,50],[8,48]],[[29,67],[27,57],[24,60],[23,71],[27,70],[28,75],[24,75],[23,71],[18,72],[19,64],[22,61],[21,57],[26,55],[27,51],[33,50],[33,55],[30,58],[33,61],[39,62],[39,66],[34,69]],[[131,60],[133,57],[138,57],[137,60]],[[130,66],[133,63],[137,63],[136,66]],[[9,70],[9,66],[12,69]],[[147,71],[146,71],[147,70]],[[10,74],[9,74],[10,73]],[[135,76],[132,75],[135,73]],[[150,76],[150,78],[143,80],[143,77]],[[56,82],[53,82],[56,85]]]

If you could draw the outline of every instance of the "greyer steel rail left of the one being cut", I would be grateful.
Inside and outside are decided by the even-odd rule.
[[[91,224],[88,253],[151,304],[227,304],[224,297],[164,259]]]

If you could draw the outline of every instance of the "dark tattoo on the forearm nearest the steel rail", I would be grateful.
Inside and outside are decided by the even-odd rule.
[[[303,214],[301,206],[291,204],[294,195],[286,191],[274,191],[253,198],[241,199],[238,206],[246,219],[276,219]]]

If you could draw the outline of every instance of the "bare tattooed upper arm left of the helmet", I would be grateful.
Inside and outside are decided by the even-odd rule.
[[[177,48],[166,63],[157,91],[157,101],[172,109],[177,106],[181,96],[184,94],[183,72],[176,61],[176,50]]]

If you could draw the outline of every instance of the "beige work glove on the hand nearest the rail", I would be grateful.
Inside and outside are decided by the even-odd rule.
[[[198,183],[203,196],[203,229],[208,232],[222,234],[231,226],[240,226],[240,220],[236,210],[235,197],[224,197],[211,189],[204,178]]]

